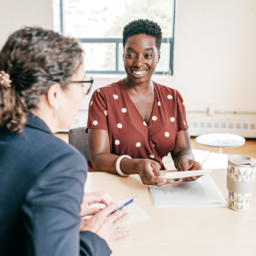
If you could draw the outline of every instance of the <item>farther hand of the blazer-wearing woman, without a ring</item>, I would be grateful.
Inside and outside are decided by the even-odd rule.
[[[83,201],[81,204],[80,216],[93,215],[96,212],[102,210],[100,207],[89,208],[92,204],[104,204],[106,206],[113,204],[113,199],[106,192],[94,192],[94,193],[84,193]]]

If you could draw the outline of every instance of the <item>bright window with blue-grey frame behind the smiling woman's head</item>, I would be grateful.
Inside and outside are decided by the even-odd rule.
[[[172,73],[174,9],[175,0],[61,0],[61,33],[79,38],[87,73],[125,73],[124,26],[154,20],[163,32],[155,73]]]

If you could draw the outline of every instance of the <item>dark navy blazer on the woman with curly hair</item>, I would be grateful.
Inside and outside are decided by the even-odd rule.
[[[0,255],[110,255],[106,241],[79,233],[87,164],[45,123],[0,131]]]

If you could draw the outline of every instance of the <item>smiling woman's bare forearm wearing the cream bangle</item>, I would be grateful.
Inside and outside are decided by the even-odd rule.
[[[118,172],[116,171],[115,163],[118,158],[119,155],[116,154],[100,153],[91,159],[91,163],[96,171],[117,174]],[[120,169],[125,174],[137,174],[135,167],[136,163],[136,159],[125,158],[120,162]]]

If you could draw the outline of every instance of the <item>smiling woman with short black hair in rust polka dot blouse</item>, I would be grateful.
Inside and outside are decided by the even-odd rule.
[[[172,182],[159,177],[165,169],[162,158],[169,152],[178,170],[201,169],[191,152],[182,96],[151,80],[161,40],[160,26],[153,21],[135,20],[125,26],[127,76],[96,90],[90,101],[90,171],[139,174],[144,184],[160,186]]]

